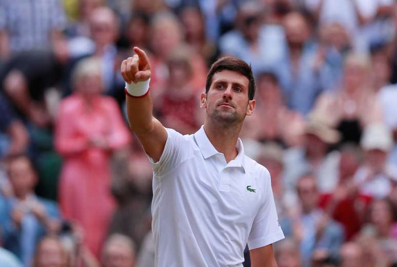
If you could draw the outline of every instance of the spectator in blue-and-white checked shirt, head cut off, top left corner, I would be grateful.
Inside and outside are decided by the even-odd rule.
[[[0,57],[52,48],[58,58],[65,59],[67,49],[62,31],[66,20],[60,1],[2,0],[0,9],[4,12],[0,20],[0,37],[4,45]]]

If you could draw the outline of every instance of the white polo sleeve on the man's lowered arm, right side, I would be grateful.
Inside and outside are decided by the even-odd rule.
[[[272,244],[284,238],[279,218],[277,217],[269,171],[264,169],[262,176],[265,183],[265,193],[262,205],[252,223],[251,233],[248,236],[248,247],[250,250]]]

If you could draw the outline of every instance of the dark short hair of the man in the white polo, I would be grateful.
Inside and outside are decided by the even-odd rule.
[[[251,65],[248,65],[245,61],[237,58],[233,58],[232,56],[225,56],[212,64],[210,70],[207,74],[207,81],[205,83],[205,93],[208,93],[209,88],[212,84],[212,77],[216,72],[220,72],[222,70],[230,70],[240,73],[247,77],[248,84],[248,99],[252,100],[255,95],[255,79],[252,73]]]

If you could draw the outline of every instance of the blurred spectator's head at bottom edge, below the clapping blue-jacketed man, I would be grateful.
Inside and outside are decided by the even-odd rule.
[[[71,267],[66,251],[56,236],[45,236],[40,240],[32,267]]]

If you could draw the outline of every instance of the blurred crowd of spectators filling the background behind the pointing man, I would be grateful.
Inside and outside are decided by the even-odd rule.
[[[251,64],[241,138],[271,174],[280,267],[397,266],[397,1],[0,0],[1,266],[153,266],[133,46],[184,134],[211,63]]]

